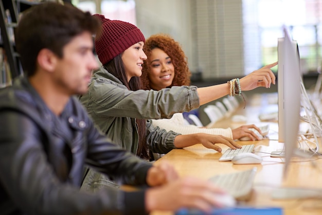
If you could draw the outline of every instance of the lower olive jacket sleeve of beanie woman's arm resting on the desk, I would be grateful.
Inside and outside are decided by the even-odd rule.
[[[159,127],[154,127],[151,120],[147,120],[147,143],[149,148],[154,153],[166,154],[172,149],[175,149],[174,138],[179,133],[173,131],[166,131]]]

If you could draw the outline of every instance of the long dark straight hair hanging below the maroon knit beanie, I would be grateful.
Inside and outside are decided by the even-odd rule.
[[[142,89],[141,79],[139,77],[132,77],[128,82],[121,55],[116,56],[112,61],[104,64],[103,66],[109,71],[109,73],[118,78],[130,91]],[[135,122],[137,124],[139,134],[139,144],[136,155],[141,158],[150,159],[146,138],[146,120],[135,119]]]

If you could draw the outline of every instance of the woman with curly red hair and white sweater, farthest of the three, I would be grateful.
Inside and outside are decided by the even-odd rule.
[[[144,45],[144,51],[148,59],[143,64],[141,81],[144,89],[159,91],[172,86],[190,84],[190,70],[187,57],[181,45],[174,41],[170,35],[154,34],[148,38]],[[258,140],[258,136],[249,130],[259,129],[254,125],[241,126],[237,129],[206,129],[196,126],[185,126],[182,113],[176,113],[170,119],[152,120],[154,126],[174,131],[181,134],[208,133],[223,135],[232,139],[239,139],[247,136],[251,140]]]

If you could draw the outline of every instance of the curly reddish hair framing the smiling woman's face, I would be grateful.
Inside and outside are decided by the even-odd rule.
[[[144,44],[144,52],[148,59],[145,60],[142,69],[141,81],[143,89],[151,89],[148,73],[150,72],[151,51],[154,48],[162,49],[171,58],[174,66],[174,78],[172,84],[169,86],[190,85],[190,70],[188,68],[188,61],[181,45],[174,41],[167,34],[154,34],[148,38]]]

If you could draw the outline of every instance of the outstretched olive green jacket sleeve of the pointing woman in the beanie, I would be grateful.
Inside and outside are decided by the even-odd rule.
[[[196,86],[174,86],[161,91],[129,91],[106,81],[94,81],[81,101],[86,109],[93,109],[91,111],[99,116],[137,119],[170,118],[174,113],[199,108]]]

